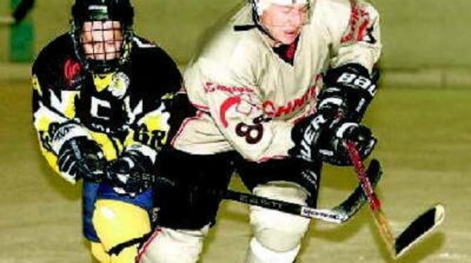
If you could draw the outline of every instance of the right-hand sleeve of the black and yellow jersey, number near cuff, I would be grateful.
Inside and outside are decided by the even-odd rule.
[[[139,53],[133,60],[136,89],[126,105],[129,129],[124,151],[136,150],[155,162],[167,143],[172,101],[182,77],[174,60],[146,39],[136,39]]]

